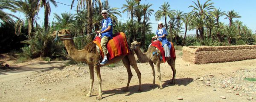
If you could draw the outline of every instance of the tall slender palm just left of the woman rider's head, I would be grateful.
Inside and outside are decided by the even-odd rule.
[[[150,9],[150,6],[152,6],[152,4],[143,4],[142,5],[142,10],[143,10],[143,14],[144,14],[144,18],[143,18],[143,30],[142,30],[142,46],[144,46],[145,44],[145,33],[146,33],[146,20],[149,20],[149,17],[151,16],[152,12],[154,12],[153,9]]]

